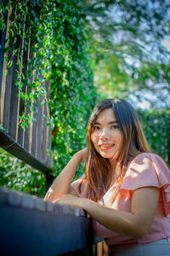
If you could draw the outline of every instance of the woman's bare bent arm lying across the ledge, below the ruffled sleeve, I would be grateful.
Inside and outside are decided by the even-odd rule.
[[[87,198],[78,198],[73,195],[65,195],[58,202],[84,208],[91,217],[116,233],[142,238],[150,230],[158,199],[159,189],[146,187],[133,191],[131,212],[104,207]]]

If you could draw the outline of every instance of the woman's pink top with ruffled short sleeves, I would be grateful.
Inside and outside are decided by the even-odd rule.
[[[87,183],[82,183],[81,193],[78,191],[81,178],[72,183],[73,188],[80,197],[87,197]],[[161,189],[160,198],[155,218],[150,227],[150,232],[141,239],[122,236],[108,230],[105,226],[94,220],[96,236],[104,237],[110,247],[126,247],[143,244],[170,236],[170,171],[160,156],[143,153],[136,156],[127,167],[126,174],[117,195],[117,185],[114,184],[99,201],[101,205],[121,210],[131,211],[131,198],[134,189],[142,187],[157,187]],[[114,195],[116,199],[112,202]],[[169,214],[169,218],[167,215]]]

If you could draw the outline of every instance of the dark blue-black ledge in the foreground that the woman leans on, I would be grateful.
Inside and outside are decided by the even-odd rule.
[[[96,255],[91,221],[82,208],[0,189],[0,254]]]

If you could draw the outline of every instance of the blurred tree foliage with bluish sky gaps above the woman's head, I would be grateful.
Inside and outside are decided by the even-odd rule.
[[[89,0],[82,1],[82,8],[99,92],[140,100],[146,89],[168,104],[170,55],[162,44],[169,37],[168,1]]]

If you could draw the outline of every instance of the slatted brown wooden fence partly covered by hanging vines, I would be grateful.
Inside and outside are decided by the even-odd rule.
[[[13,55],[13,51],[7,54],[4,53],[4,49],[10,46],[11,49],[20,49],[22,51],[22,73],[26,75],[27,63],[32,55],[30,50],[32,42],[30,38],[27,47],[24,49],[21,38],[17,38],[15,44],[10,42],[9,45],[5,45],[5,38],[8,38],[8,29],[11,22],[11,20],[8,20],[9,15],[10,12],[5,13],[4,22],[7,26],[3,32],[0,32],[0,124],[3,127],[0,130],[0,147],[48,175],[51,158],[51,131],[50,126],[47,126],[47,119],[42,119],[43,115],[48,115],[48,105],[41,105],[42,98],[40,98],[36,106],[37,113],[32,116],[36,121],[31,121],[25,131],[19,126],[20,115],[26,110],[25,102],[20,97],[20,90],[15,85],[19,65],[17,65],[17,56]],[[11,67],[7,67],[7,61],[3,61],[5,55],[8,56],[8,61],[13,61]],[[7,75],[5,75],[5,70],[8,71]],[[22,91],[26,92],[28,86],[24,87]],[[49,91],[48,82],[44,86]],[[33,102],[31,102],[31,106],[32,104]]]

